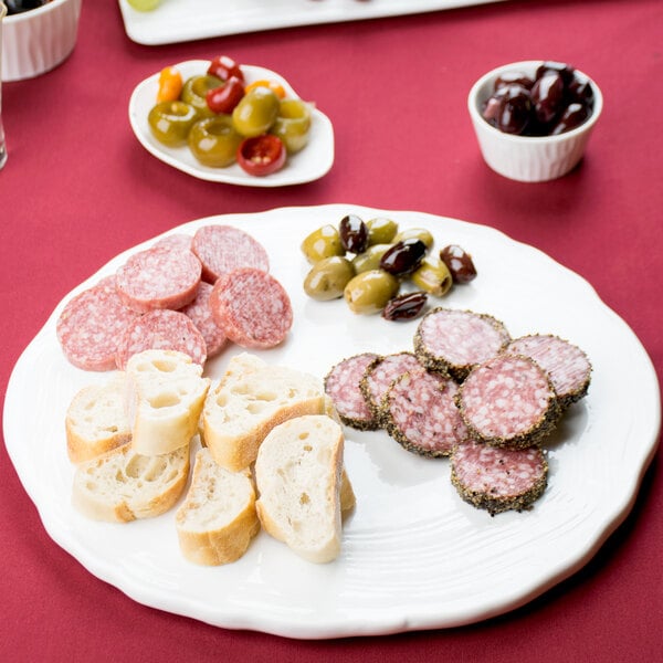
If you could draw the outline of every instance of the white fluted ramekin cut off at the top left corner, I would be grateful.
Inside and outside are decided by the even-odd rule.
[[[2,81],[32,78],[56,67],[76,45],[82,0],[52,0],[2,20]]]

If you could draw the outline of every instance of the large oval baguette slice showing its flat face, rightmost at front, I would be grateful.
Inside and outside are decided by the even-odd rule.
[[[313,562],[338,557],[344,436],[329,417],[274,428],[255,461],[257,516],[265,532]]]

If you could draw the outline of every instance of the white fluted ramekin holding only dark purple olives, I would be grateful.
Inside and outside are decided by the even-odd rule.
[[[591,131],[603,109],[599,86],[582,72],[593,90],[593,109],[580,126],[557,136],[516,136],[490,125],[481,115],[483,104],[493,94],[495,80],[506,72],[523,72],[529,76],[541,60],[527,60],[499,66],[482,76],[470,91],[467,108],[485,162],[499,175],[522,182],[544,182],[562,177],[580,161]]]

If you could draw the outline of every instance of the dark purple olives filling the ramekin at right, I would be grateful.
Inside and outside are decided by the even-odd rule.
[[[522,72],[498,76],[482,116],[506,134],[556,136],[580,126],[592,108],[588,81],[568,64],[544,62],[534,78]]]

